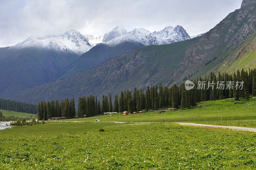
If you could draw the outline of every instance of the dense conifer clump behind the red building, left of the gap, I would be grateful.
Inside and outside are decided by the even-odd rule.
[[[75,100],[68,98],[59,100],[52,100],[51,102],[40,101],[37,104],[37,119],[49,120],[52,117],[66,117],[74,118],[76,116]]]

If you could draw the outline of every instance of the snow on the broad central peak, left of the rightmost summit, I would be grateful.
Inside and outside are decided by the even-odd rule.
[[[132,31],[105,42],[104,44],[114,47],[125,42],[138,43],[143,46],[169,44],[169,41],[164,40],[158,35],[155,35],[143,28],[133,29]]]

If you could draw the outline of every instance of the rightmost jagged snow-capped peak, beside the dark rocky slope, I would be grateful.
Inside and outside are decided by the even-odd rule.
[[[180,25],[177,25],[174,28],[171,26],[165,27],[163,30],[157,32],[154,31],[153,33],[165,40],[168,40],[169,43],[175,43],[190,39],[190,36],[186,32],[186,30]]]

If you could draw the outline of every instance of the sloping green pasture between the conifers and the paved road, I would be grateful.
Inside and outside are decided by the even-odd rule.
[[[89,118],[70,119],[70,121],[119,121],[119,122],[190,122],[215,125],[256,127],[256,105],[234,104],[233,98],[200,102],[196,107],[165,113],[112,114]],[[256,103],[256,99],[240,100],[244,104]],[[201,106],[201,107],[200,107]],[[205,107],[202,107],[205,106]],[[221,123],[222,115],[222,123]],[[232,122],[231,122],[232,119]],[[242,123],[241,123],[242,121]]]

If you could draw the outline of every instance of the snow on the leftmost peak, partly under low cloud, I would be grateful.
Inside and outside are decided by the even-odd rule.
[[[89,51],[92,45],[80,32],[70,30],[59,36],[46,36],[43,38],[29,37],[22,43],[12,46],[12,48],[17,50],[31,47],[43,50],[74,52],[77,55],[82,55],[86,51]]]

